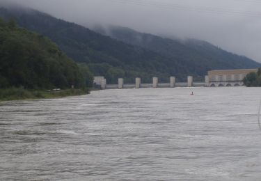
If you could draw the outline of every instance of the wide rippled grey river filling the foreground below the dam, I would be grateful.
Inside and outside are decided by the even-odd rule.
[[[0,180],[260,180],[260,99],[149,88],[1,102]]]

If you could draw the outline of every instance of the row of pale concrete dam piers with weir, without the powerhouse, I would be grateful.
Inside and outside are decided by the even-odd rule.
[[[104,77],[95,77],[94,84],[101,89],[122,89],[122,88],[175,88],[175,87],[202,87],[208,86],[208,77],[206,76],[205,82],[194,82],[192,76],[187,77],[187,82],[176,82],[175,77],[170,77],[168,83],[159,83],[158,77],[152,78],[151,84],[142,84],[141,78],[135,79],[135,84],[124,84],[124,79],[119,78],[118,84],[106,84]]]

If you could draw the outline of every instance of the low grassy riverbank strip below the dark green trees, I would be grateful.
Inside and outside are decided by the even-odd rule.
[[[88,89],[66,89],[61,91],[27,90],[24,88],[0,89],[0,101],[31,100],[88,94]]]

